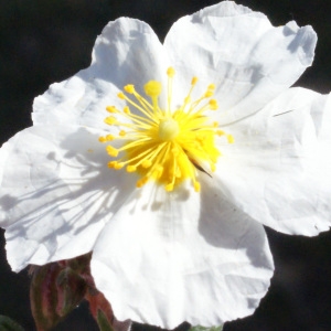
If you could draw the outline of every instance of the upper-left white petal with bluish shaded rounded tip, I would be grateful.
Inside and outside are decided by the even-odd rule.
[[[161,79],[164,58],[162,44],[148,24],[127,18],[110,22],[96,40],[92,65],[34,99],[33,122],[105,129],[106,106],[122,108],[117,94],[127,84],[141,93],[148,81]]]

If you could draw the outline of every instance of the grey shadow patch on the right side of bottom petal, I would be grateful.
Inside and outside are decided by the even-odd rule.
[[[215,247],[246,249],[253,265],[268,265],[270,257],[264,254],[268,241],[263,225],[224,196],[217,186],[222,183],[209,178],[202,182],[199,232],[204,239]]]

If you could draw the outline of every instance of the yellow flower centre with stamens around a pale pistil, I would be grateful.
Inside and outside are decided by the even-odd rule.
[[[99,138],[100,142],[118,141],[115,148],[107,145],[108,154],[115,158],[108,167],[127,172],[137,172],[140,179],[137,186],[143,186],[154,180],[172,191],[184,180],[191,180],[196,192],[200,191],[199,171],[215,171],[221,156],[215,146],[216,136],[223,136],[228,143],[234,141],[231,135],[220,130],[217,122],[211,122],[206,111],[216,110],[217,102],[212,98],[215,86],[210,84],[206,92],[196,100],[191,100],[191,94],[197,83],[193,77],[189,94],[183,104],[172,109],[172,81],[174,70],[168,68],[168,104],[167,109],[159,107],[159,96],[162,92],[160,82],[150,81],[145,86],[145,93],[150,102],[138,94],[134,85],[126,85],[125,93],[118,97],[127,102],[122,110],[115,106],[107,107],[111,115],[105,118],[109,126],[116,126],[118,134]],[[131,109],[129,108],[131,107]],[[119,120],[122,118],[124,120]]]

